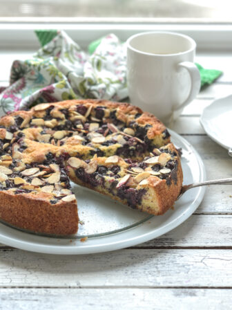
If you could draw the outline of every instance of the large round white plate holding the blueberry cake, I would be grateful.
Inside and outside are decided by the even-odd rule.
[[[182,147],[184,183],[205,181],[206,173],[200,156],[184,138],[171,131],[172,141]],[[22,232],[0,223],[0,242],[23,250],[50,254],[87,254],[135,246],[159,237],[188,219],[203,199],[205,188],[194,188],[175,203],[175,210],[153,217],[122,206],[93,191],[74,185],[77,194],[79,233],[72,239],[43,237]],[[87,241],[80,238],[88,236]]]

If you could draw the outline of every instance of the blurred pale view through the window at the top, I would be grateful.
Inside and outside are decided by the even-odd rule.
[[[1,18],[231,22],[231,0],[0,0]]]

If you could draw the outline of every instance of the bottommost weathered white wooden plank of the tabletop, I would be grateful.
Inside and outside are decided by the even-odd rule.
[[[0,289],[0,310],[231,309],[230,289]]]

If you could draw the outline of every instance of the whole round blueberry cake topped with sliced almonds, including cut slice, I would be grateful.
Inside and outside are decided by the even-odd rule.
[[[182,188],[166,127],[107,100],[38,104],[0,119],[0,219],[36,233],[77,233],[70,181],[161,215]]]

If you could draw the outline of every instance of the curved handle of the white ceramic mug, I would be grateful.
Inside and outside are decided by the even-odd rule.
[[[193,101],[193,99],[196,98],[196,96],[200,91],[200,84],[201,84],[200,72],[197,69],[197,66],[193,64],[193,62],[180,62],[179,64],[177,64],[177,67],[184,68],[189,72],[191,78],[191,91],[186,100],[184,100],[182,104],[178,105],[178,107],[176,108],[174,107],[174,111],[178,111],[186,107],[187,104]]]

